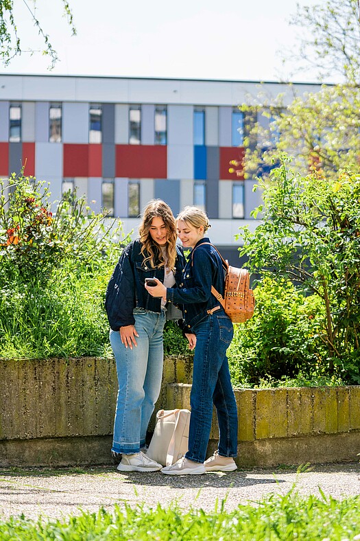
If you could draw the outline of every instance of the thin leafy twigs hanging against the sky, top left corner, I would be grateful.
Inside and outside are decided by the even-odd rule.
[[[20,0],[18,0],[20,1]],[[62,2],[64,16],[67,18],[69,27],[73,36],[76,34],[75,26],[73,24],[73,13],[71,11],[69,2],[67,0],[60,0]],[[32,0],[34,8],[30,8],[29,3],[23,0],[23,3],[27,10],[29,11],[32,20],[34,21],[34,26],[36,27],[38,34],[43,38],[44,49],[42,51],[43,55],[49,56],[50,67],[53,68],[56,62],[58,61],[58,54],[53,48],[50,42],[49,35],[46,34],[43,30],[40,21],[38,21],[35,14],[35,0]],[[0,0],[0,57],[3,62],[3,65],[7,66],[10,64],[12,58],[15,56],[21,55],[25,52],[21,45],[21,38],[19,34],[19,25],[16,22],[16,16],[14,15],[14,0]],[[27,52],[33,53],[32,49],[27,50]]]

